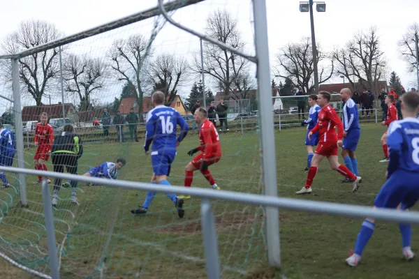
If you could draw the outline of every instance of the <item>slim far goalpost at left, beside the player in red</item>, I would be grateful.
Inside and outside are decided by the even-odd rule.
[[[19,61],[11,59],[12,63],[12,87],[13,87],[13,109],[15,110],[15,138],[16,138],[16,155],[17,167],[24,168],[24,146],[23,146],[23,124],[22,124],[22,107],[20,106],[20,77],[19,77]],[[20,203],[27,206],[27,188],[26,176],[19,174],[19,191]]]

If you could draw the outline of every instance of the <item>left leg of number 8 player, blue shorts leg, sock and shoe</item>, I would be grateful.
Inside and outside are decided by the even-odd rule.
[[[403,188],[402,183],[403,178],[398,173],[395,172],[390,176],[390,179],[385,181],[380,192],[374,200],[374,209],[376,208],[390,208],[395,209],[404,199],[406,192]],[[353,250],[353,255],[346,259],[346,263],[350,266],[357,266],[362,257],[362,252],[367,246],[369,239],[371,239],[372,234],[375,229],[375,220],[373,218],[366,218],[362,223],[360,232],[355,241],[355,249]]]

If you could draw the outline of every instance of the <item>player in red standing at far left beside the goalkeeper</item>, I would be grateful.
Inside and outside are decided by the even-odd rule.
[[[35,129],[35,142],[34,144],[38,146],[36,148],[36,153],[34,156],[35,169],[47,171],[47,166],[45,162],[50,158],[52,142],[54,142],[54,130],[52,126],[47,123],[48,114],[46,112],[41,113],[41,123],[36,124]],[[50,179],[47,178],[48,183]],[[38,181],[35,183],[41,183],[42,176],[38,176]]]

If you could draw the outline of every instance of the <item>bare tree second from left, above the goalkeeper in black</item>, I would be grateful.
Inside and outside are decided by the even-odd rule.
[[[91,96],[105,87],[108,72],[108,65],[101,59],[75,54],[66,56],[63,63],[65,90],[78,96],[80,112],[87,113],[91,109]]]

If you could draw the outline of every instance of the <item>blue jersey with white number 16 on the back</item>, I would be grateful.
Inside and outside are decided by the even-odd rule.
[[[181,132],[176,137],[177,125]],[[182,142],[188,133],[189,126],[185,119],[172,107],[158,105],[147,114],[144,150],[149,151],[175,151],[176,142]]]

